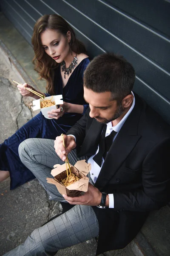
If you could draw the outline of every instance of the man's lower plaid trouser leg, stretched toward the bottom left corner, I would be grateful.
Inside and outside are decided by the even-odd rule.
[[[58,250],[92,239],[98,233],[92,207],[76,205],[34,230],[23,244],[4,256],[54,256]]]

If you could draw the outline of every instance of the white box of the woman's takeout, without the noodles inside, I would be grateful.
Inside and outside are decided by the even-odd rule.
[[[41,108],[40,102],[42,102],[43,99],[36,99],[36,100],[33,100],[33,102],[32,102],[32,104],[33,104],[33,111],[40,109],[41,112],[42,112],[42,115],[45,116],[45,118],[47,118],[47,119],[52,119],[52,118],[49,118],[49,117],[48,117],[47,112],[48,112],[48,111],[51,111],[52,109],[58,108],[57,105],[63,104],[63,100],[62,100],[62,94],[60,94],[60,95],[54,95],[54,96],[52,97],[52,99],[51,99],[51,97],[52,97],[52,96],[48,96],[48,97],[45,97],[44,99],[50,99],[51,102],[55,102],[55,105],[53,105],[53,106],[51,106],[51,107],[47,107],[47,108]]]

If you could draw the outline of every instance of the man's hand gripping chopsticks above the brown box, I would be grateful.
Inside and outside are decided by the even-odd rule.
[[[57,155],[62,159],[62,161],[65,161],[66,159],[65,155],[70,153],[70,151],[76,147],[76,142],[73,136],[63,135],[63,137],[65,142],[65,147],[63,145],[62,136],[58,136],[54,141],[54,148]]]

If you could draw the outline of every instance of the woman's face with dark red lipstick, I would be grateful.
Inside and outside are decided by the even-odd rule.
[[[57,63],[61,63],[69,55],[69,42],[71,40],[70,31],[64,36],[57,30],[46,29],[41,33],[40,38],[45,52]]]

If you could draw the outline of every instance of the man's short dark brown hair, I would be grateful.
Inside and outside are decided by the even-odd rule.
[[[86,88],[96,93],[110,91],[118,102],[130,94],[134,81],[133,66],[123,56],[114,53],[96,56],[84,73]]]

